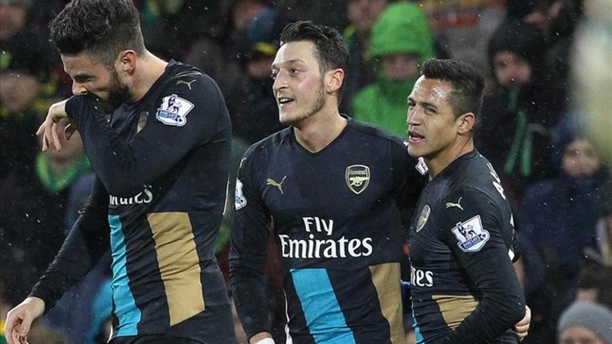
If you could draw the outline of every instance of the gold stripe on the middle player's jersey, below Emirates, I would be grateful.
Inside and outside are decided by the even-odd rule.
[[[381,312],[389,322],[391,343],[405,343],[404,323],[401,309],[400,263],[384,263],[370,266],[372,283],[376,287]],[[396,281],[397,283],[389,283]]]

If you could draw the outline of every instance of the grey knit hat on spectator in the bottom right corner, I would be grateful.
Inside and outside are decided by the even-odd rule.
[[[559,318],[557,333],[570,326],[582,326],[595,332],[606,343],[612,344],[612,311],[590,301],[570,305]]]

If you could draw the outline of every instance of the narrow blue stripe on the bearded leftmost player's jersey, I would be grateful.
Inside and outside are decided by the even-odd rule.
[[[113,252],[113,302],[114,313],[119,320],[116,336],[137,335],[140,322],[140,309],[130,290],[130,278],[125,268],[125,236],[119,215],[108,215],[111,226],[111,250]]]

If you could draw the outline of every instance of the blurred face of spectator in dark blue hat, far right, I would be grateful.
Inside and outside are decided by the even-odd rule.
[[[570,177],[592,176],[599,170],[601,161],[589,141],[578,138],[570,142],[563,153],[561,168]]]

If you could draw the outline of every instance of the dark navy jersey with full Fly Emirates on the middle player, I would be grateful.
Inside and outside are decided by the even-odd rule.
[[[271,230],[288,343],[405,341],[398,204],[416,204],[422,184],[414,165],[400,138],[353,119],[316,153],[300,146],[293,128],[248,149],[236,182],[230,267],[249,337],[269,331],[262,276]]]

